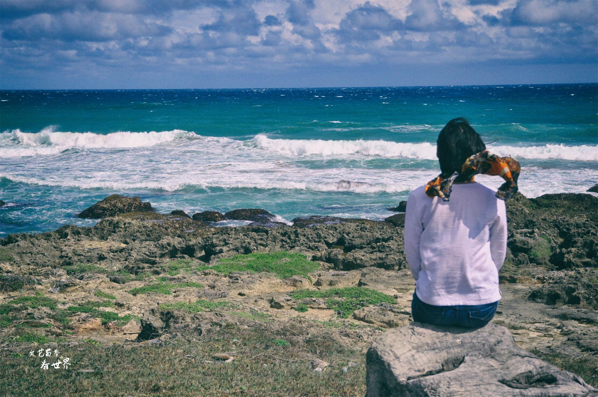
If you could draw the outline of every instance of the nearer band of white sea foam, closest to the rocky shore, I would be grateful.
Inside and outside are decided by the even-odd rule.
[[[348,175],[353,181],[368,181],[368,184],[352,184],[339,188],[338,174]],[[434,170],[371,170],[371,169],[328,169],[309,170],[291,169],[284,172],[264,173],[260,170],[254,172],[235,173],[234,167],[221,170],[214,174],[209,171],[188,173],[185,175],[136,175],[132,180],[118,178],[123,173],[109,176],[102,175],[90,178],[89,175],[50,175],[50,176],[19,176],[0,173],[0,178],[7,178],[14,182],[23,182],[33,185],[47,185],[55,187],[74,187],[82,189],[105,188],[118,191],[126,190],[162,190],[180,191],[202,189],[210,191],[213,188],[225,189],[260,189],[260,190],[300,190],[317,192],[351,192],[358,194],[406,194],[419,186],[425,185],[434,178]],[[106,179],[108,178],[108,180]],[[476,181],[490,188],[498,188],[502,179],[498,176],[478,175]],[[583,193],[588,186],[596,183],[593,170],[579,169],[541,169],[527,167],[518,181],[519,191],[526,197],[538,197],[546,193]]]

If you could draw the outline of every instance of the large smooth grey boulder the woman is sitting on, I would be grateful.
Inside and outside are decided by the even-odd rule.
[[[386,331],[366,357],[366,396],[582,396],[598,392],[515,344],[507,328],[412,323]]]

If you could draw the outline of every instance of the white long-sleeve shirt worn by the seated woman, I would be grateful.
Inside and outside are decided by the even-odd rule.
[[[453,184],[450,201],[413,190],[405,212],[405,256],[416,294],[435,306],[498,301],[507,253],[505,201],[478,184]]]

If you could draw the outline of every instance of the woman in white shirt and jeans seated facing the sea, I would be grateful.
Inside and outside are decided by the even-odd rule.
[[[440,132],[437,157],[441,174],[411,192],[405,211],[405,255],[416,280],[411,312],[417,322],[477,328],[492,319],[501,298],[504,200],[516,193],[520,168],[486,151],[464,118]],[[478,173],[505,183],[492,190],[474,181]]]

